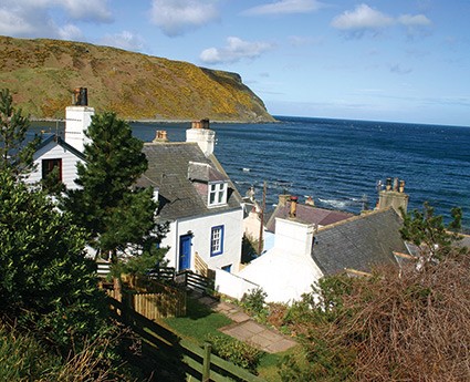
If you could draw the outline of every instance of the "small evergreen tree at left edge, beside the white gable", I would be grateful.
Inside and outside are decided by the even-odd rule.
[[[21,109],[13,107],[8,89],[0,91],[0,171],[9,171],[15,176],[31,171],[40,138],[36,136],[25,143],[29,118],[21,114]]]

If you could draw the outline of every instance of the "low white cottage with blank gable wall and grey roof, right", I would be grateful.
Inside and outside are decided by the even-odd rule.
[[[290,217],[275,218],[274,247],[242,269],[238,280],[232,278],[240,287],[227,291],[241,298],[255,285],[267,292],[269,302],[292,302],[311,292],[323,276],[364,275],[374,266],[399,266],[395,252],[407,252],[401,224],[398,214],[386,208],[317,229],[297,217],[294,205]]]

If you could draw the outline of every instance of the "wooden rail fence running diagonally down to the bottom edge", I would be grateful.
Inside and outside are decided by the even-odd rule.
[[[177,334],[160,324],[148,320],[127,304],[109,298],[116,319],[130,327],[142,339],[142,364],[154,361],[155,368],[174,373],[173,380],[192,381],[247,381],[264,380],[249,371],[210,353],[208,344],[200,348],[194,342],[178,338]],[[168,379],[168,376],[167,376]]]

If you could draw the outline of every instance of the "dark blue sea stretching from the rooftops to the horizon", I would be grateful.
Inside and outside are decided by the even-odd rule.
[[[358,214],[374,208],[379,182],[405,180],[408,210],[427,202],[450,220],[461,207],[470,229],[470,127],[274,116],[276,123],[211,123],[215,154],[240,194],[254,187],[267,209],[280,194],[311,196],[318,207]],[[154,140],[166,130],[185,141],[190,123],[133,122],[133,134]],[[264,187],[265,185],[265,187]]]

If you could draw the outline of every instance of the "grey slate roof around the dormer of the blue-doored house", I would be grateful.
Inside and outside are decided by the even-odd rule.
[[[203,179],[198,182],[188,176],[190,163],[198,163],[198,167],[210,166],[211,174],[217,173],[226,180],[229,177],[217,158],[213,155],[206,157],[197,143],[146,143],[143,152],[148,169],[137,180],[137,186],[158,188],[158,214],[161,219],[175,220],[241,208],[241,197],[231,182],[227,205],[208,208],[208,195],[203,182],[200,182]]]

